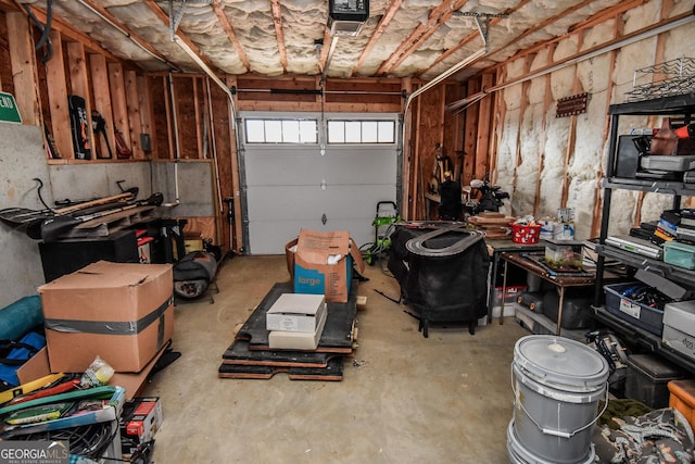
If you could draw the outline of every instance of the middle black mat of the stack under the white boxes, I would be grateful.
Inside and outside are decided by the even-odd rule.
[[[249,350],[247,340],[235,340],[222,355],[223,364],[276,367],[326,367],[338,353],[289,350]]]

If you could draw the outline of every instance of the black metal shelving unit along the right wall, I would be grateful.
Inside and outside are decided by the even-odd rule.
[[[604,292],[603,274],[606,258],[618,260],[635,269],[644,269],[655,273],[675,283],[692,285],[692,283],[695,281],[695,272],[693,271],[671,266],[662,261],[650,260],[605,244],[610,216],[610,199],[612,190],[623,189],[671,195],[673,197],[673,209],[681,208],[682,197],[695,196],[695,185],[693,184],[684,184],[673,180],[620,178],[615,176],[618,123],[620,117],[679,115],[682,116],[684,122],[687,124],[692,122],[692,116],[695,114],[695,92],[674,97],[662,97],[653,100],[612,104],[608,109],[608,114],[610,115],[610,136],[606,177],[602,183],[602,187],[604,188],[604,201],[603,215],[601,220],[599,244],[596,248],[598,260],[596,263],[596,285],[594,292],[595,316],[599,322],[607,325],[616,333],[630,337],[646,350],[652,351],[692,373],[695,373],[695,360],[688,359],[680,352],[677,352],[670,347],[664,344],[660,337],[608,313],[602,305]]]

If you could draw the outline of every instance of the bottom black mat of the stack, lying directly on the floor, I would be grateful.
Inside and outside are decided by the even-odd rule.
[[[222,364],[217,371],[220,378],[268,379],[278,373],[287,373],[291,380],[330,380],[343,379],[343,360],[337,356],[328,361],[326,367],[280,367]]]

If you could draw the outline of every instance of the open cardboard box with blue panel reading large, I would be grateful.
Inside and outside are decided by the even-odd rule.
[[[290,242],[291,243],[291,242]],[[327,302],[346,303],[352,285],[353,263],[364,272],[359,248],[348,230],[301,229],[293,253],[286,246],[288,267],[295,293],[325,294]]]

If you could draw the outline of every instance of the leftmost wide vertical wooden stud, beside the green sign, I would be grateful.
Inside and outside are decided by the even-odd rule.
[[[39,78],[36,72],[36,53],[31,43],[28,20],[20,12],[7,15],[8,45],[14,83],[14,99],[24,124],[41,125],[39,108]]]

